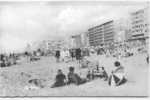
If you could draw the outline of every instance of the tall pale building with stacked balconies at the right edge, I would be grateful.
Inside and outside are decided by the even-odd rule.
[[[148,37],[148,8],[140,9],[131,13],[131,35],[132,40],[140,40]]]

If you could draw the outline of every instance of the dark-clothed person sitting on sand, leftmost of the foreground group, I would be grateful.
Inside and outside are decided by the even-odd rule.
[[[64,86],[66,84],[65,79],[66,76],[62,73],[62,70],[59,69],[56,75],[56,82],[52,85],[51,88]]]

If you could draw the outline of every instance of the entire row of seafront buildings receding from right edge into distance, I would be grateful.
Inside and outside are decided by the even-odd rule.
[[[33,43],[32,48],[42,51],[105,46],[112,43],[144,41],[149,37],[148,8],[130,14],[127,19],[108,20],[89,28],[86,32],[72,35],[66,39],[44,40]],[[28,50],[29,47],[28,47]]]

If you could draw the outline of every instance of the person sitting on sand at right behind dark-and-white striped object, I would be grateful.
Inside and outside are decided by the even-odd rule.
[[[109,85],[119,86],[127,81],[124,75],[124,67],[122,67],[118,61],[116,61],[114,65],[116,69],[112,71],[108,82]]]

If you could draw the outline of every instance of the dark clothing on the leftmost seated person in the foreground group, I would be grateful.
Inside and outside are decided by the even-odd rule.
[[[66,79],[66,76],[64,74],[56,75],[56,82],[54,83],[52,88],[65,85],[65,82],[64,82],[65,79]]]

